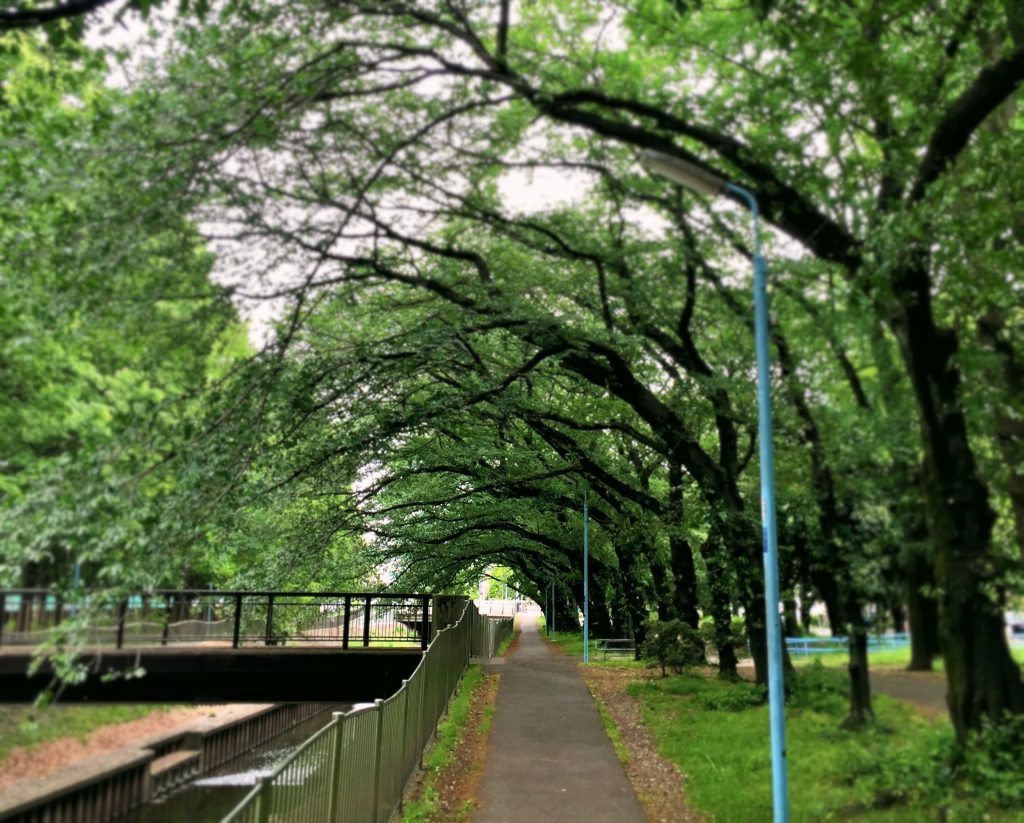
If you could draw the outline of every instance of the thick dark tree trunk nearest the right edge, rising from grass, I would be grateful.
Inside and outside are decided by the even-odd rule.
[[[940,330],[931,310],[925,261],[896,278],[891,326],[918,403],[924,443],[924,488],[940,595],[949,713],[963,744],[983,718],[1024,711],[1020,669],[1010,655],[999,569],[991,551],[994,514],[968,438],[955,361],[957,338]]]

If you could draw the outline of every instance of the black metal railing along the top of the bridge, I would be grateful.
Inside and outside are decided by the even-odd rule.
[[[0,591],[0,647],[34,646],[63,626],[88,645],[419,647],[431,596],[390,592],[159,590],[126,598]]]

